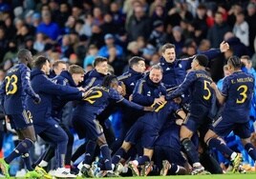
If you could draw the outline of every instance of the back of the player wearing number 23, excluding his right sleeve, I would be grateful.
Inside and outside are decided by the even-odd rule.
[[[7,114],[16,114],[23,111],[22,100],[22,70],[27,67],[23,64],[17,64],[8,70],[5,77],[5,103],[4,108]]]

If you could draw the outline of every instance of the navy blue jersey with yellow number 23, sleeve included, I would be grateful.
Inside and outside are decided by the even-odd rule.
[[[32,99],[36,95],[31,86],[31,70],[24,64],[17,64],[8,70],[1,87],[2,105],[6,114],[18,114],[26,109],[27,95]]]

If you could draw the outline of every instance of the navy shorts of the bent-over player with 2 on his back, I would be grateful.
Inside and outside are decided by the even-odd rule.
[[[96,119],[75,115],[72,122],[79,139],[87,138],[96,141],[97,137],[103,133],[103,129]]]

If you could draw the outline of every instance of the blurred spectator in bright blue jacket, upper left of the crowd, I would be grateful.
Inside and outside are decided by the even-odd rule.
[[[52,22],[52,16],[50,11],[44,10],[42,12],[42,22],[39,24],[36,31],[46,34],[53,40],[56,40],[57,37],[60,35],[58,25]]]

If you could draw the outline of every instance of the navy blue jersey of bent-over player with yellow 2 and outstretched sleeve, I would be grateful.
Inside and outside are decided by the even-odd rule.
[[[96,86],[90,89],[90,93],[84,98],[84,100],[77,104],[75,114],[84,115],[86,112],[88,116],[91,114],[91,118],[95,119],[96,115],[106,109],[112,101],[124,104],[131,108],[143,109],[143,107],[124,99],[116,89]]]

